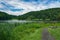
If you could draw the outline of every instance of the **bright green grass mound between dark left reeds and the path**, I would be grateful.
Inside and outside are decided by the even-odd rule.
[[[13,29],[12,40],[41,40],[42,29],[37,23],[22,24]]]

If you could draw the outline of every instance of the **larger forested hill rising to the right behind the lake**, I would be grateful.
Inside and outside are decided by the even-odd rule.
[[[32,11],[18,16],[23,20],[58,20],[60,21],[60,8],[51,8],[41,11]]]

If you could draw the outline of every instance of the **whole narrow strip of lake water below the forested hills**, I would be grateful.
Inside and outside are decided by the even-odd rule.
[[[44,21],[28,21],[28,20],[0,20],[0,23],[8,22],[8,23],[30,23],[30,22],[44,22]],[[45,22],[60,22],[60,21],[45,21]]]

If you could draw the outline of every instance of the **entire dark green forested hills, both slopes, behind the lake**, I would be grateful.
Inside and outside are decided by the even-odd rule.
[[[57,20],[60,21],[60,8],[51,8],[41,11],[32,11],[24,15],[14,16],[0,12],[0,20]]]

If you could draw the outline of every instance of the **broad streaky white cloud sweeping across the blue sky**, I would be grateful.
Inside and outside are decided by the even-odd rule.
[[[5,0],[5,2],[14,6],[15,8],[24,9],[22,11],[17,11],[17,12],[13,12],[11,10],[0,10],[6,13],[12,14],[12,15],[22,15],[30,11],[38,11],[38,10],[43,10],[43,9],[48,9],[48,8],[60,7],[60,2],[58,1],[51,2],[47,5],[44,4],[47,2],[47,0],[41,2],[40,4],[37,4],[36,2],[23,2],[23,1],[18,1],[18,0]],[[0,7],[2,6],[0,5]]]

